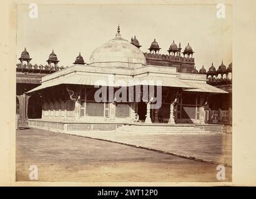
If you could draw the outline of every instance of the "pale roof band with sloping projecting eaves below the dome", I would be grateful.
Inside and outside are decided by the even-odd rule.
[[[154,85],[182,88],[182,90],[194,92],[227,93],[224,90],[207,85],[205,75],[177,73],[174,71],[174,68],[153,67],[150,65],[134,70],[127,69],[73,65],[51,75],[44,76],[42,78],[42,85],[37,86],[27,93],[57,85]]]

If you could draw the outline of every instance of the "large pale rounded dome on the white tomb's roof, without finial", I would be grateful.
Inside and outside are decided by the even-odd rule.
[[[89,65],[99,67],[142,67],[146,65],[144,53],[120,35],[98,47],[89,60]]]

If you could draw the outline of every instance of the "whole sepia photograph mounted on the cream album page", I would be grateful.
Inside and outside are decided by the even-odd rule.
[[[16,182],[232,182],[232,4],[16,9]]]

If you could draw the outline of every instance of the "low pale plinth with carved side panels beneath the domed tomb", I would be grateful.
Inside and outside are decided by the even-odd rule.
[[[132,133],[221,133],[222,124],[167,124],[167,123],[79,123],[29,119],[29,126],[54,132],[120,131]]]

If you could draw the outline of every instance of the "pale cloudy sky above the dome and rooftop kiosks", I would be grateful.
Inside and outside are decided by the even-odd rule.
[[[117,25],[130,41],[136,35],[142,52],[156,39],[167,54],[172,40],[182,51],[189,42],[195,67],[216,68],[232,62],[232,6],[225,19],[216,17],[216,5],[39,5],[37,19],[29,18],[29,5],[17,7],[17,63],[26,47],[31,63],[46,65],[54,49],[59,66],[71,66],[79,52],[85,62],[100,45],[115,37]]]

